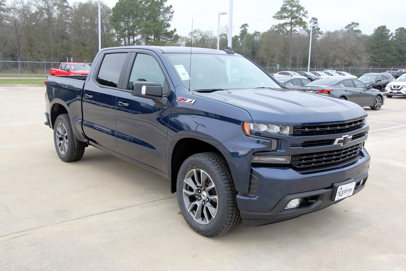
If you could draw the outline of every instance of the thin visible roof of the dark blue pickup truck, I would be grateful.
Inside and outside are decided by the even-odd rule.
[[[190,53],[190,47],[185,46],[140,45],[140,46],[120,46],[120,47],[103,48],[102,50],[112,50],[112,49],[146,49],[161,53]],[[222,50],[192,47],[192,54],[227,54],[227,53]],[[235,53],[235,55],[240,54]]]

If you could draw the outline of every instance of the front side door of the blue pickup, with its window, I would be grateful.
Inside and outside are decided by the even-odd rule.
[[[134,81],[159,82],[163,94],[169,94],[169,84],[158,56],[139,50],[132,55],[123,88],[116,103],[117,147],[124,156],[160,171],[166,170],[166,137],[170,107],[158,108],[153,100],[131,95]],[[158,62],[159,61],[159,62]],[[170,103],[168,103],[170,104]]]

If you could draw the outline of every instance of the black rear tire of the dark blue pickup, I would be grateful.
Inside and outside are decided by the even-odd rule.
[[[62,129],[62,133],[58,130]],[[66,142],[66,146],[63,144]],[[58,154],[60,160],[65,162],[74,162],[82,158],[84,154],[84,147],[78,148],[75,144],[75,138],[73,135],[71,120],[68,114],[59,115],[54,124],[54,144],[56,154]],[[58,145],[62,147],[58,147]]]

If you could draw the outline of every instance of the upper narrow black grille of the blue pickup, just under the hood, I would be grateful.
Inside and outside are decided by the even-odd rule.
[[[295,135],[316,135],[316,134],[341,134],[350,132],[364,126],[365,119],[358,119],[348,123],[322,124],[322,125],[300,125],[294,127]]]

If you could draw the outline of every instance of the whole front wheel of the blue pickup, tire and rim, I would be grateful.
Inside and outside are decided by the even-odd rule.
[[[225,234],[241,222],[230,169],[216,152],[188,157],[179,169],[176,192],[184,219],[201,235]]]

